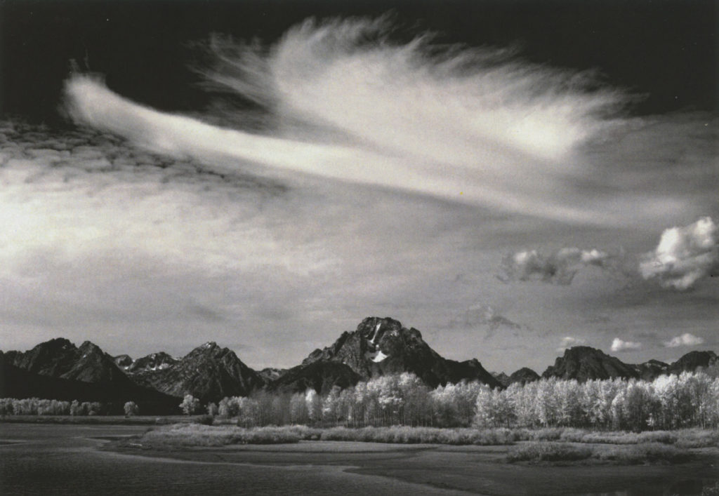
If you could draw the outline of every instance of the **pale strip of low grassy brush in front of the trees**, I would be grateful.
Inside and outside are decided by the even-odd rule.
[[[311,428],[283,426],[241,428],[178,423],[148,430],[122,441],[126,448],[173,449],[242,444],[297,444],[300,441],[506,446],[510,463],[679,464],[693,451],[719,448],[719,432],[700,429],[644,433],[592,432],[581,429],[441,429],[441,428]]]

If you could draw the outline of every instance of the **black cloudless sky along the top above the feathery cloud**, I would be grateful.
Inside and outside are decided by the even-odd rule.
[[[646,99],[635,111],[717,108],[713,1],[2,1],[2,111],[52,119],[71,59],[160,109],[198,109],[188,42],[271,42],[306,17],[390,12],[398,36],[518,47],[549,65],[598,68]]]

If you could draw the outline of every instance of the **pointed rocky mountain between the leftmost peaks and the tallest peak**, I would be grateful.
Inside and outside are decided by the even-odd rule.
[[[266,385],[232,350],[214,342],[198,346],[171,367],[146,369],[132,378],[165,394],[180,397],[191,394],[203,402],[247,396]]]

